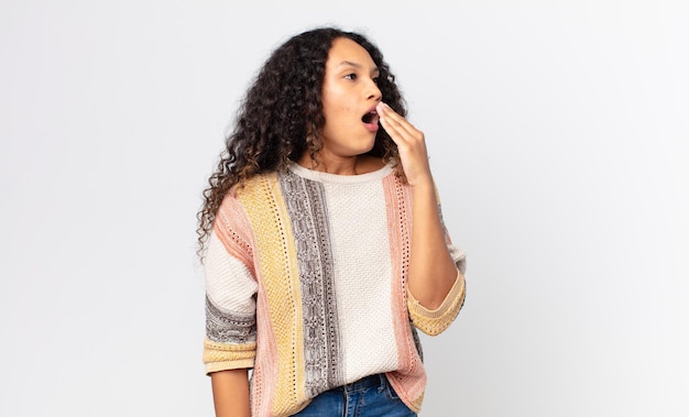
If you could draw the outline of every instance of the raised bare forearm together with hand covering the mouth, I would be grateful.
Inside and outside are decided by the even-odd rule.
[[[384,103],[379,105],[376,111],[382,127],[397,144],[414,198],[407,288],[422,306],[435,310],[461,274],[445,240],[424,133]]]

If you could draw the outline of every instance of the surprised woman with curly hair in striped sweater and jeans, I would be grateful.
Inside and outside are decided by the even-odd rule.
[[[217,416],[419,411],[416,329],[453,321],[464,254],[405,114],[357,33],[300,33],[261,69],[199,212]]]

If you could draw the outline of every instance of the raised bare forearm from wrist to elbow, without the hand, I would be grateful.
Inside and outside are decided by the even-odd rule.
[[[436,309],[457,279],[445,240],[433,179],[413,187],[412,256],[408,289],[424,307]]]

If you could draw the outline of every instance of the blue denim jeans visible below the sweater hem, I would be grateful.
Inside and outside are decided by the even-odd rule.
[[[384,374],[326,391],[293,417],[416,417]]]

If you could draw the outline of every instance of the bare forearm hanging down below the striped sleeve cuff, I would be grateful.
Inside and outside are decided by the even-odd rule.
[[[249,375],[245,369],[210,374],[216,417],[250,417]]]

